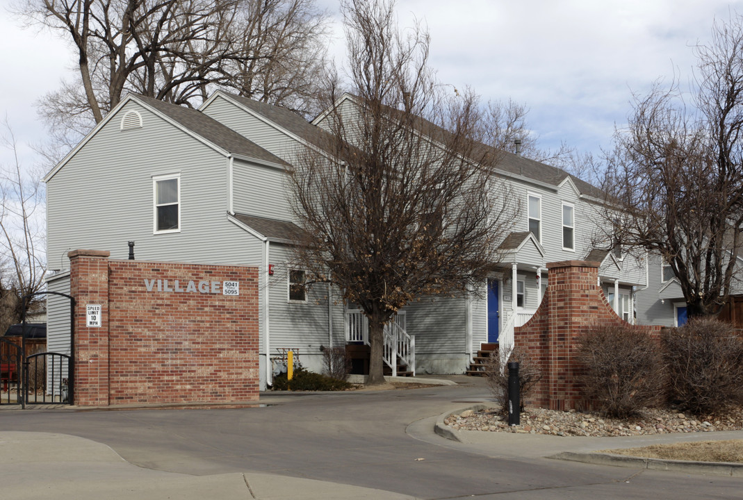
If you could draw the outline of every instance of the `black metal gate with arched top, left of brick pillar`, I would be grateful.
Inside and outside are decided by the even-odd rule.
[[[70,354],[26,352],[26,300],[34,295],[59,295],[70,300]],[[20,345],[0,337],[0,404],[74,403],[74,303],[60,292],[36,292],[22,297],[23,327]],[[48,345],[48,344],[47,344]]]

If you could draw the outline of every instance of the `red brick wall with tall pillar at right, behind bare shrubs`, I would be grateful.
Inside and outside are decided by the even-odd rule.
[[[625,323],[598,286],[596,262],[570,260],[548,263],[547,292],[533,318],[514,332],[516,347],[524,349],[544,378],[528,404],[549,409],[590,409],[577,379],[577,338],[598,324]],[[659,326],[637,326],[658,336]]]

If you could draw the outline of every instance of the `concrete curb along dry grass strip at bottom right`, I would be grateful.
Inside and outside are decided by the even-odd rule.
[[[661,458],[643,458],[614,453],[575,453],[562,452],[547,458],[556,460],[578,461],[585,464],[612,465],[614,467],[632,467],[651,470],[675,470],[683,473],[712,474],[714,476],[732,476],[743,478],[743,464],[731,462],[700,462],[686,460],[663,460]]]

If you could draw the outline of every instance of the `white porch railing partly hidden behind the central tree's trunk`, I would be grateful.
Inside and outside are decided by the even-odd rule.
[[[347,342],[363,342],[369,345],[369,321],[363,312],[349,309],[346,313],[345,332]],[[398,359],[406,365],[415,376],[415,335],[406,332],[407,318],[404,311],[395,316],[395,320],[384,326],[384,344],[382,358],[392,369],[392,376],[398,376]]]

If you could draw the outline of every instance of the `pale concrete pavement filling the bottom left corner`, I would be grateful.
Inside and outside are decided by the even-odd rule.
[[[85,438],[0,432],[0,489],[13,500],[403,500],[383,490],[273,474],[189,476],[129,464]]]

